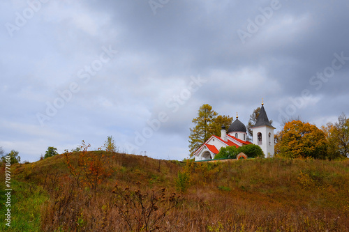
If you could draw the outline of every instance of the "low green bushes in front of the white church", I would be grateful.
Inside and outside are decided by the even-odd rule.
[[[244,153],[247,157],[255,158],[255,157],[264,157],[264,153],[260,146],[255,144],[247,144],[244,146],[239,146],[236,148],[235,146],[227,146],[222,147],[219,150],[219,153],[214,157],[215,159],[223,159],[223,158],[231,158],[236,159],[239,153]]]

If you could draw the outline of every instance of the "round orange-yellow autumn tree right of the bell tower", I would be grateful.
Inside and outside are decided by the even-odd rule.
[[[275,150],[281,157],[324,159],[327,157],[327,140],[325,133],[315,125],[292,121],[280,132]]]

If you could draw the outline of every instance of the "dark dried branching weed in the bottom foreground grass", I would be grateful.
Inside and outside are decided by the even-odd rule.
[[[142,192],[140,182],[137,185],[138,189],[131,190],[130,187],[122,188],[116,184],[113,190],[116,196],[114,206],[130,231],[161,229],[158,224],[165,219],[168,211],[177,206],[179,196],[175,192],[167,194],[165,187],[158,191]]]

